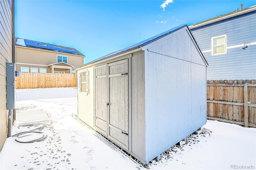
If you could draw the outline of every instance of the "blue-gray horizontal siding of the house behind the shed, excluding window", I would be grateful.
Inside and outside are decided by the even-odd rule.
[[[209,64],[207,80],[256,79],[256,11],[209,25],[192,28]],[[227,53],[212,55],[211,38],[226,35]],[[241,49],[243,43],[247,49]],[[238,47],[239,46],[239,47]]]

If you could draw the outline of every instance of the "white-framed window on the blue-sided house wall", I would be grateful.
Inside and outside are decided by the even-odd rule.
[[[212,37],[212,55],[226,54],[226,35]]]

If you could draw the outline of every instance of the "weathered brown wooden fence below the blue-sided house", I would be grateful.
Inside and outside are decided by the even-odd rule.
[[[256,80],[207,80],[207,118],[256,127]]]

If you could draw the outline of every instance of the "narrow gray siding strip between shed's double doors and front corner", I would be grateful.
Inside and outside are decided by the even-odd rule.
[[[144,51],[132,53],[131,72],[131,149],[145,159],[145,61]],[[142,160],[141,160],[142,161]],[[142,161],[143,162],[143,161]]]

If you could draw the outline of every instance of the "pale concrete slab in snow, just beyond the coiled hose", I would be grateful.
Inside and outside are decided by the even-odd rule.
[[[44,120],[44,119],[49,119],[49,117],[50,115],[48,115],[45,111],[42,111],[42,110],[16,112],[16,121],[20,121],[20,122]]]

